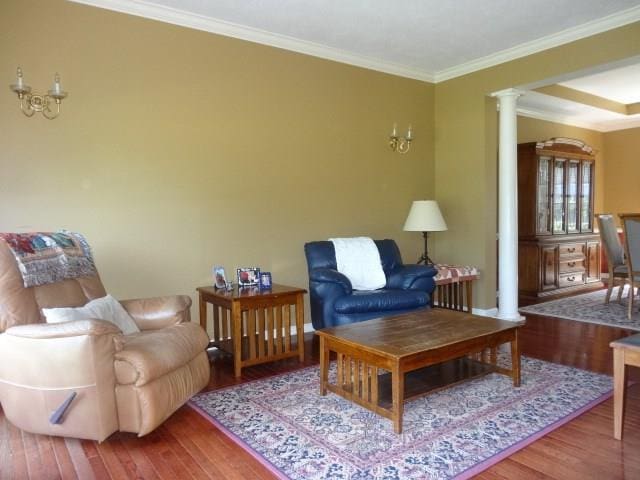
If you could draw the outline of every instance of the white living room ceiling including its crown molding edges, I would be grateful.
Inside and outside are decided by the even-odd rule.
[[[72,0],[441,81],[640,20],[640,0]]]

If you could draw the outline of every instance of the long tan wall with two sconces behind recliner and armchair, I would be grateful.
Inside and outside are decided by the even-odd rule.
[[[431,84],[61,0],[3,0],[0,59],[7,85],[20,65],[69,91],[53,121],[0,95],[0,231],[85,233],[119,298],[194,296],[214,264],[306,287],[303,244],[331,236],[419,256],[402,226],[434,195]]]

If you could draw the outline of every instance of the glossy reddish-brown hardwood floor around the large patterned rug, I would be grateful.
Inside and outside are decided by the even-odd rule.
[[[571,320],[528,316],[524,355],[592,371],[612,372],[611,340],[633,332]],[[305,365],[318,363],[318,340],[305,336]],[[209,389],[299,368],[297,360],[243,369],[233,377],[231,357],[212,355]],[[634,370],[634,369],[631,369]],[[632,378],[640,379],[638,371]],[[613,402],[607,400],[516,452],[476,478],[640,478],[640,383],[628,390],[624,439],[613,438]],[[117,433],[105,442],[22,432],[0,410],[0,479],[272,479],[250,454],[189,407],[180,408],[151,434]]]

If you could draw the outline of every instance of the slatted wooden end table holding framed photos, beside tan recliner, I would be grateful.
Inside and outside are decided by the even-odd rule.
[[[304,299],[306,290],[273,284],[271,290],[199,287],[200,325],[207,329],[207,303],[213,306],[214,345],[231,339],[236,377],[242,367],[298,356],[304,360]],[[292,308],[293,307],[293,308]],[[295,325],[296,343],[291,342]]]

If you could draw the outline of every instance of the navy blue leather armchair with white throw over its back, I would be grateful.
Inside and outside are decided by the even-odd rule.
[[[353,290],[349,279],[338,272],[332,242],[305,244],[313,328],[361,322],[430,306],[436,269],[403,265],[393,240],[375,240],[375,244],[387,284],[380,290],[370,291]]]

